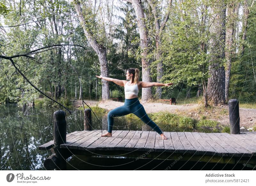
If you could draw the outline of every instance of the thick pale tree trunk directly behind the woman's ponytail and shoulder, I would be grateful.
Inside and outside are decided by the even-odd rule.
[[[151,82],[149,60],[147,59],[148,55],[148,31],[145,23],[145,16],[143,12],[143,7],[141,0],[131,0],[132,6],[135,11],[136,20],[138,24],[139,34],[140,34],[140,49],[141,49],[141,65],[142,65],[142,81]],[[145,103],[148,100],[151,100],[152,96],[152,87],[143,88],[141,102]]]

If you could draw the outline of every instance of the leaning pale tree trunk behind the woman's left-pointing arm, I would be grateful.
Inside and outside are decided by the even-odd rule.
[[[93,50],[97,53],[99,60],[100,60],[100,73],[103,77],[108,77],[108,60],[107,60],[107,54],[106,49],[99,43],[97,43],[96,39],[93,37],[92,33],[90,31],[87,31],[86,21],[84,20],[80,2],[78,0],[74,0],[75,9],[77,16],[79,18],[79,21],[84,29],[84,34],[90,43]],[[109,86],[108,81],[101,80],[102,82],[102,100],[109,99]]]

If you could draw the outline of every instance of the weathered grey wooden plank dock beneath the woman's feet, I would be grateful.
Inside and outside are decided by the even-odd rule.
[[[103,133],[107,132],[102,130]],[[101,130],[75,131],[60,144],[71,155],[101,155],[150,159],[176,159],[216,163],[256,165],[256,132],[228,133],[164,132],[162,140],[155,131],[113,130],[101,137]],[[39,150],[53,147],[53,140]]]

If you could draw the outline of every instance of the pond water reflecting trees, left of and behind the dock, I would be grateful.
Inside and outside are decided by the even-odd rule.
[[[53,113],[56,109],[28,107],[22,112],[16,105],[0,105],[1,170],[44,170],[44,159],[52,152],[39,151],[38,146],[53,139]],[[107,114],[92,114],[93,129],[108,129]],[[83,111],[67,114],[67,132],[84,130]],[[164,131],[191,131],[158,124]],[[113,130],[151,130],[139,118],[114,118]],[[204,131],[206,132],[206,131]],[[75,165],[74,165],[75,166]]]

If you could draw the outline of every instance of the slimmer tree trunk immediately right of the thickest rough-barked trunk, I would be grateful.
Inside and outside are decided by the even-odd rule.
[[[225,100],[227,103],[228,103],[228,89],[229,89],[229,81],[230,81],[231,62],[235,54],[234,35],[235,35],[235,26],[236,26],[239,6],[240,6],[240,2],[238,3],[230,2],[227,6],[226,43],[225,43],[226,45]]]

